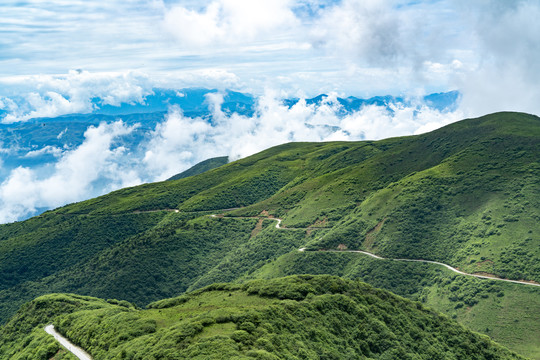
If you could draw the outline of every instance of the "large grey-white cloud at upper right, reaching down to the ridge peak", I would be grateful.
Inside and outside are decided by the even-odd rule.
[[[343,0],[317,14],[314,48],[345,63],[360,87],[458,88],[467,116],[540,113],[538,1]]]

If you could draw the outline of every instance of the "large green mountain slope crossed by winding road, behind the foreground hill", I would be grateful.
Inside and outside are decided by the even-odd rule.
[[[528,316],[540,313],[536,289],[297,251],[365,249],[540,282],[538,159],[540,119],[497,113],[418,136],[285,144],[68,205],[0,226],[0,321],[50,292],[142,306],[214,282],[328,273],[436,306],[540,359],[540,319]],[[490,307],[500,309],[492,320]]]

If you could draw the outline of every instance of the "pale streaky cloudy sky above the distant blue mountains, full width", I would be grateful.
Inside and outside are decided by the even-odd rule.
[[[0,96],[68,96],[56,79],[97,82],[103,92],[115,81],[130,81],[135,92],[271,87],[365,97],[459,89],[482,112],[491,108],[472,104],[492,98],[497,82],[501,97],[512,97],[505,106],[532,112],[523,97],[537,90],[539,8],[520,0],[4,0]],[[82,83],[74,70],[88,73]]]

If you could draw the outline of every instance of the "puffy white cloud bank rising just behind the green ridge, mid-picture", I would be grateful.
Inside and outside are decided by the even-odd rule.
[[[185,117],[171,111],[152,133],[143,162],[155,180],[163,180],[199,161],[228,155],[252,155],[271,146],[295,141],[378,140],[434,130],[463,118],[460,111],[439,112],[423,104],[366,106],[342,114],[336,94],[320,104],[283,104],[278,93],[258,98],[253,116],[221,111],[223,97],[207,95],[212,120]]]

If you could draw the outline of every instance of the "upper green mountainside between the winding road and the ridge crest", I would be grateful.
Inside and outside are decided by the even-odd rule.
[[[57,212],[242,207],[230,214],[268,211],[290,227],[332,228],[314,247],[343,244],[540,281],[539,145],[537,117],[499,113],[414,137],[286,144],[191,181]]]

